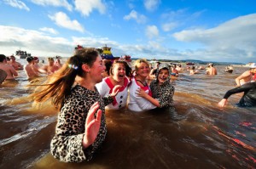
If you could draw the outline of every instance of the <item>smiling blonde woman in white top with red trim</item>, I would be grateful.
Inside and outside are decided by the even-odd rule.
[[[137,59],[134,63],[134,67],[136,75],[131,79],[128,109],[132,111],[152,110],[156,108],[156,106],[137,94],[137,89],[141,88],[148,93],[148,95],[152,96],[151,90],[146,82],[150,72],[148,61],[146,59]]]

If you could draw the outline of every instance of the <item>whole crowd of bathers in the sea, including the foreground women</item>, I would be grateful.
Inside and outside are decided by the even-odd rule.
[[[175,87],[172,80],[184,70],[190,75],[206,70],[207,75],[217,75],[213,64],[183,69],[182,65],[156,63],[152,68],[147,59],[137,59],[133,66],[125,60],[105,60],[95,48],[81,48],[61,64],[60,59],[48,58],[42,65],[37,57],[27,57],[20,65],[15,56],[9,59],[0,54],[2,82],[15,79],[16,70],[25,70],[28,79],[41,74],[46,81],[31,94],[36,104],[51,100],[59,111],[55,136],[50,151],[56,159],[66,162],[90,161],[106,138],[105,109],[138,112],[152,109],[174,109]],[[5,73],[4,73],[5,72]],[[236,78],[237,87],[224,94],[218,103],[227,104],[234,93],[244,92],[239,104],[256,106],[256,65]],[[1,83],[2,83],[1,82]]]

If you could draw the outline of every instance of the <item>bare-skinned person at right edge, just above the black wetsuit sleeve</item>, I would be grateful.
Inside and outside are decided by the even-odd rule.
[[[249,68],[250,70],[247,70],[243,72],[241,76],[236,77],[237,87],[240,87],[247,82],[256,81],[256,64],[253,63]]]

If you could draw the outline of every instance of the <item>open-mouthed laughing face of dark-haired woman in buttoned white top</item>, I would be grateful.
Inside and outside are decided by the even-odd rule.
[[[113,64],[112,68],[113,80],[117,82],[122,82],[125,80],[125,65],[124,64]]]

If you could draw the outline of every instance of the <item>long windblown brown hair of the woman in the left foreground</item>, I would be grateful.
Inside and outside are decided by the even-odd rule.
[[[64,100],[71,93],[73,83],[76,76],[85,77],[82,65],[90,67],[96,61],[99,53],[95,48],[81,48],[72,57],[67,59],[67,62],[56,71],[52,76],[49,76],[44,84],[38,86],[32,97],[36,104],[52,99],[51,102],[55,109],[61,110]]]

